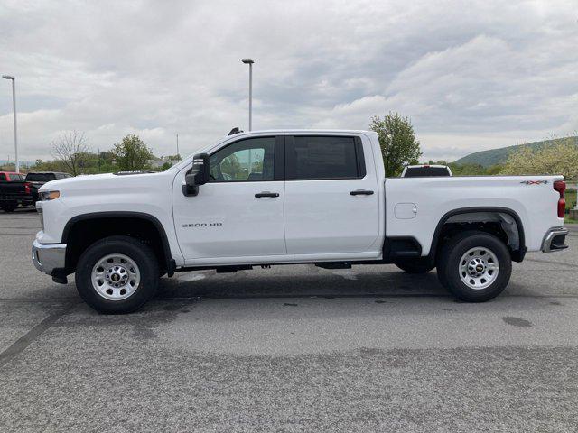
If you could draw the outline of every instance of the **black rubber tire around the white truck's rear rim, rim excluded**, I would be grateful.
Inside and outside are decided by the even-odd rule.
[[[461,258],[472,248],[481,247],[493,253],[499,265],[498,275],[488,287],[474,289],[461,280]],[[465,265],[467,263],[464,261]],[[467,302],[484,302],[496,298],[508,285],[512,259],[508,247],[496,236],[480,231],[467,231],[453,236],[443,245],[437,263],[440,282],[456,298]],[[467,273],[464,274],[464,278]],[[489,277],[491,278],[491,277]]]

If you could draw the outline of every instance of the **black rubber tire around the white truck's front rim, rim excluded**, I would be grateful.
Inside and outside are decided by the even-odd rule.
[[[109,254],[123,254],[138,266],[140,283],[126,299],[106,299],[92,284],[93,268]],[[75,278],[80,297],[93,309],[104,314],[130,313],[154,297],[159,282],[159,265],[153,251],[142,242],[128,236],[110,236],[90,245],[82,253]]]

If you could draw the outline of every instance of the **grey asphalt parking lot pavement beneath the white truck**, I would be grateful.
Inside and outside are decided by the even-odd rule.
[[[578,229],[507,293],[455,302],[435,272],[311,266],[164,279],[99,316],[0,214],[1,431],[576,431]]]

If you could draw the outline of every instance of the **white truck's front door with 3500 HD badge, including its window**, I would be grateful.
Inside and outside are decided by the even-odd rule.
[[[283,137],[228,143],[210,155],[210,182],[201,185],[195,197],[182,194],[186,173],[179,173],[173,209],[186,264],[286,254],[284,173],[278,172],[283,156]]]

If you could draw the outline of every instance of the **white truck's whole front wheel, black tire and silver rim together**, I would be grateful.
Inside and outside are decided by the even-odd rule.
[[[101,313],[130,313],[153,298],[159,266],[153,251],[128,236],[110,236],[89,246],[79,258],[76,286]]]

